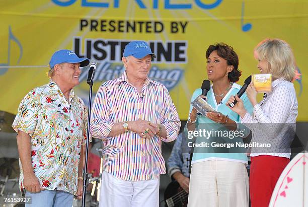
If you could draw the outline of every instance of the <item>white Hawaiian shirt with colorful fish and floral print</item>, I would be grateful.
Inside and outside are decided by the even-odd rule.
[[[19,105],[12,127],[31,137],[32,167],[43,188],[76,194],[81,145],[88,113],[81,98],[69,92],[67,102],[55,82],[30,91]],[[19,187],[23,187],[20,163]]]

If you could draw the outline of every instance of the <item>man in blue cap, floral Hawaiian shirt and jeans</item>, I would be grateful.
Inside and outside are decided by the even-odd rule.
[[[71,206],[82,197],[82,144],[88,113],[74,94],[80,66],[89,59],[70,50],[50,59],[50,82],[31,90],[22,100],[12,127],[20,156],[19,186],[32,198],[31,206]],[[28,204],[26,204],[27,206]]]

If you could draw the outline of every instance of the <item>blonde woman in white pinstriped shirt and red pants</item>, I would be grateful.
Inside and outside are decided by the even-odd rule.
[[[261,74],[272,74],[272,92],[257,102],[257,91],[251,83],[246,94],[253,105],[253,114],[238,103],[230,108],[241,116],[244,125],[251,129],[252,142],[270,144],[270,148],[252,148],[250,168],[251,205],[268,206],[276,182],[290,161],[290,145],[295,135],[297,98],[291,81],[295,76],[295,61],[290,46],[280,39],[265,39],[255,48]],[[257,204],[258,203],[258,204]]]

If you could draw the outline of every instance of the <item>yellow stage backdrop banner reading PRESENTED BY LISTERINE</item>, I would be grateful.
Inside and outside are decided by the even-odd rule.
[[[180,118],[187,119],[190,97],[207,78],[205,51],[210,44],[234,47],[243,84],[259,73],[254,47],[264,38],[278,37],[293,48],[302,74],[294,82],[297,121],[308,121],[307,11],[308,1],[294,0],[0,1],[0,110],[16,114],[25,94],[48,82],[46,65],[56,50],[71,49],[98,62],[96,92],[123,72],[124,46],[145,40],[157,55],[149,77],[169,89]],[[86,103],[87,73],[84,68],[75,89]]]

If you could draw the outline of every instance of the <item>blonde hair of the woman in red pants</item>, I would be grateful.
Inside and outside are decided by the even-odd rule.
[[[270,72],[274,79],[284,78],[292,81],[295,77],[295,59],[289,44],[275,39],[262,40],[255,48],[260,60],[269,63]]]

